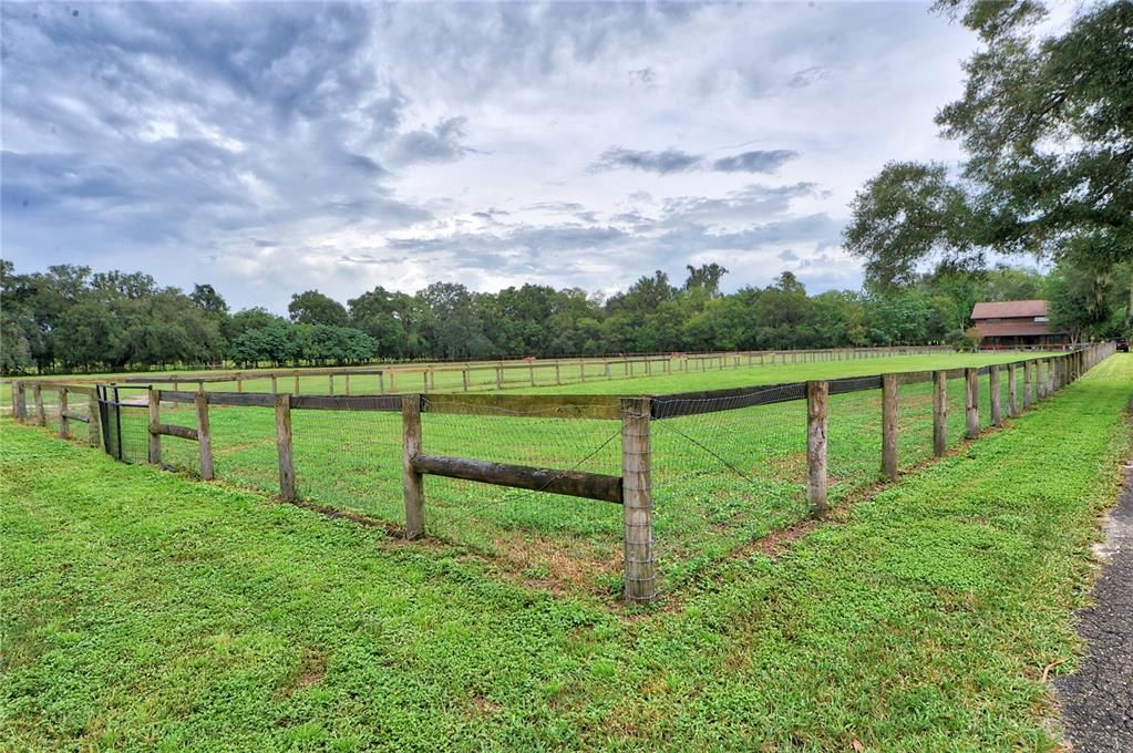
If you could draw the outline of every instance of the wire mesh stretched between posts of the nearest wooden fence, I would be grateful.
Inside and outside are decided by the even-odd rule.
[[[710,368],[707,361],[702,365]],[[1036,382],[1050,384],[1047,368],[1043,365],[1037,374],[1026,369],[1026,376],[1023,367],[1016,367],[1019,409],[1026,402],[1025,391],[1033,396]],[[993,423],[991,378],[989,369],[980,371],[977,428],[983,430]],[[952,378],[944,384],[946,446],[955,447],[968,431],[968,385],[963,371],[948,374]],[[936,454],[932,375],[905,374],[903,378],[886,383],[898,385],[898,471]],[[823,488],[829,503],[837,505],[883,478],[886,393],[876,375],[824,384],[829,396],[824,402]],[[999,369],[997,390],[1006,418],[1011,407],[1006,367]],[[146,462],[147,388],[107,387],[103,393],[107,402],[101,414],[111,423],[105,431],[108,452],[126,462]],[[281,437],[286,434],[288,464],[290,469],[293,454],[300,498],[407,524],[408,503],[402,496],[406,419],[400,407],[410,396],[351,401],[210,394],[208,434],[216,478],[280,493]],[[58,391],[45,390],[42,397],[44,414],[51,417],[49,428],[58,431]],[[160,422],[201,429],[193,402],[201,397],[191,393],[171,393],[170,397],[161,404]],[[71,412],[91,408],[85,394],[74,393],[69,399]],[[551,479],[572,472],[613,478],[619,484],[623,474],[630,478],[624,470],[629,452],[623,440],[632,439],[623,434],[625,414],[621,411],[628,404],[623,400],[463,393],[412,395],[412,400],[419,404],[423,457],[547,471]],[[255,404],[245,404],[249,402]],[[281,410],[290,427],[283,434]],[[808,500],[813,485],[808,438],[812,442],[813,437],[808,437],[804,383],[653,396],[648,411],[655,536],[650,557],[661,563],[662,590],[696,577],[706,566],[765,541],[769,533],[813,512]],[[186,434],[191,436],[191,431]],[[160,442],[164,465],[201,472],[197,442],[165,435]],[[436,470],[424,472],[431,536],[489,554],[536,580],[620,588],[628,507],[598,500],[602,497],[552,496],[547,486],[512,488],[516,485],[492,486],[463,480],[474,478],[469,476],[457,479]]]

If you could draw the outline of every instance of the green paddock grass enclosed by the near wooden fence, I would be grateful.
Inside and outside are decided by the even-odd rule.
[[[795,382],[1002,362],[1003,354],[943,354],[756,367],[702,374],[553,387],[600,394],[666,393],[746,384]],[[981,426],[989,395],[981,391]],[[949,390],[949,437],[964,426],[964,387]],[[1006,405],[1007,379],[1000,388]],[[930,385],[901,391],[901,460],[909,469],[931,456]],[[538,392],[536,388],[535,392]],[[140,394],[140,393],[123,393]],[[583,393],[585,394],[585,393]],[[459,400],[459,397],[458,397]],[[835,504],[878,481],[879,391],[830,400],[829,472]],[[51,426],[57,426],[52,419]],[[145,408],[122,410],[126,455],[146,457]],[[163,408],[163,421],[195,427],[188,407]],[[276,491],[274,414],[261,408],[210,411],[218,478]],[[84,430],[79,427],[78,430]],[[299,494],[310,502],[403,523],[401,419],[395,413],[293,411]],[[620,476],[617,421],[466,416],[424,417],[427,452],[478,460],[578,469]],[[806,405],[764,405],[655,421],[654,502],[662,588],[668,591],[710,571],[733,551],[807,514]],[[196,444],[163,438],[163,460],[198,470]],[[581,462],[580,461],[583,461]],[[432,536],[489,555],[528,581],[604,597],[621,592],[622,511],[585,499],[491,487],[438,477],[426,479]]]

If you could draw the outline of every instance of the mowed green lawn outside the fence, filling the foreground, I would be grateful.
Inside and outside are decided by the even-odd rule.
[[[1053,750],[1133,358],[625,613],[2,423],[11,750]]]

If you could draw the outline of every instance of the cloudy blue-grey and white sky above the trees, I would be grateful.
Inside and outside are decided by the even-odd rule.
[[[976,44],[913,2],[0,14],[5,258],[274,310],[707,262],[855,288],[846,204],[887,160],[957,157],[932,115]]]

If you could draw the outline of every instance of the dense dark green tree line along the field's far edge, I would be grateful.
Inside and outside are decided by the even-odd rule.
[[[210,284],[186,293],[142,273],[53,266],[18,274],[0,263],[5,373],[121,371],[205,365],[325,366],[403,359],[599,356],[622,352],[970,344],[979,300],[1050,298],[1055,326],[1079,336],[1127,327],[1130,281],[1114,279],[1101,322],[1077,313],[1092,286],[1056,269],[942,268],[886,290],[808,294],[790,272],[723,294],[726,269],[688,267],[682,284],[646,275],[610,298],[526,284],[495,293],[437,282],[415,294],[374,288],[346,303],[296,293],[288,315],[230,311]],[[1128,271],[1124,273],[1128,276]],[[1091,298],[1092,300],[1092,298]]]

